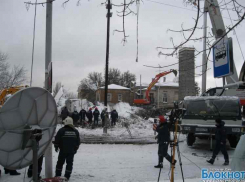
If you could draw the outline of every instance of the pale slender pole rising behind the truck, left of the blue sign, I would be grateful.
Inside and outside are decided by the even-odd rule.
[[[202,93],[206,92],[206,80],[207,80],[207,15],[208,8],[206,7],[206,1],[204,1],[204,15],[203,15],[203,55],[202,55]]]

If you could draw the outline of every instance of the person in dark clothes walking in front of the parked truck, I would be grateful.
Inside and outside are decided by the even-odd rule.
[[[210,160],[207,160],[207,162],[213,164],[219,151],[221,151],[225,158],[225,163],[223,165],[227,166],[229,165],[229,156],[226,151],[226,131],[224,127],[225,122],[222,121],[220,118],[216,119],[215,122],[216,122],[216,131],[215,131],[216,145],[213,151],[212,158]]]

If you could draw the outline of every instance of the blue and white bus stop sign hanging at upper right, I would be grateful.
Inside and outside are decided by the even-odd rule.
[[[233,74],[232,39],[224,37],[213,47],[214,78]]]

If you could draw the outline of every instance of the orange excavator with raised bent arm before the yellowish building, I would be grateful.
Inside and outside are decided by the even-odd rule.
[[[170,70],[170,71],[165,71],[165,72],[162,72],[162,73],[159,73],[155,76],[155,78],[152,80],[152,82],[150,83],[150,85],[148,86],[147,90],[146,90],[146,98],[145,99],[134,99],[134,104],[137,104],[137,105],[147,105],[147,104],[150,104],[150,97],[149,97],[149,93],[151,91],[151,88],[157,83],[157,81],[165,76],[165,75],[168,75],[169,73],[174,73],[175,76],[177,76],[177,70]]]

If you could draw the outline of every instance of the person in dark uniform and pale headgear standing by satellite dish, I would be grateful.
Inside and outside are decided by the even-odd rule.
[[[74,155],[80,145],[80,137],[79,132],[73,126],[72,118],[67,117],[64,120],[64,125],[58,131],[53,142],[55,151],[58,152],[60,149],[55,176],[61,176],[63,165],[66,162],[65,177],[69,180],[72,173]]]

